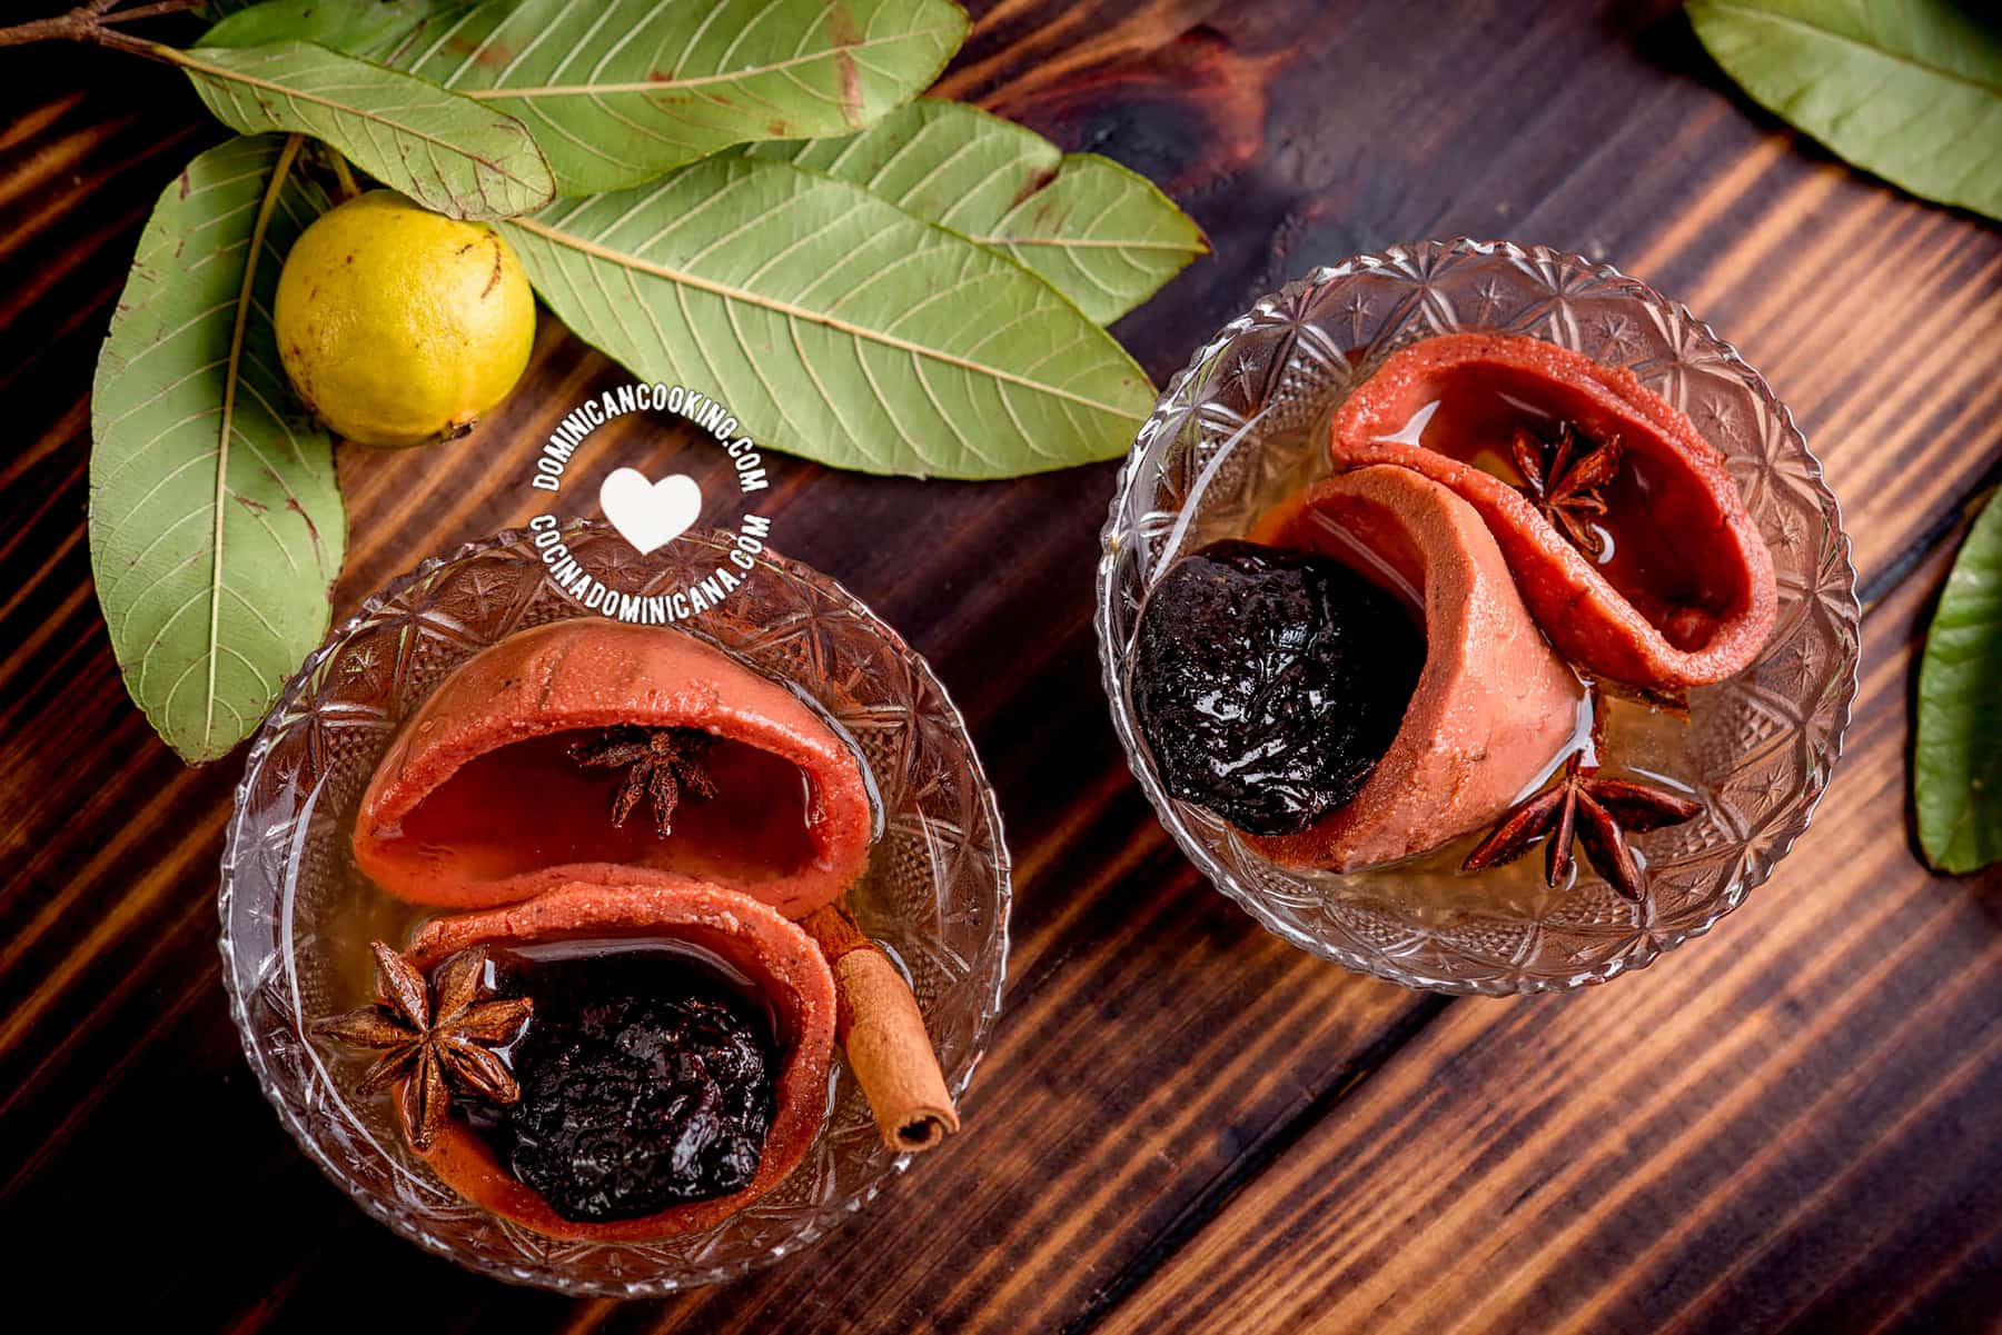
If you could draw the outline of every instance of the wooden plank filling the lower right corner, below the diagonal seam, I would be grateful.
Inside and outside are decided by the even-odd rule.
[[[1906,849],[1916,618],[1784,875],[1644,981],[1455,1005],[1103,1333],[1994,1331],[2002,869]]]

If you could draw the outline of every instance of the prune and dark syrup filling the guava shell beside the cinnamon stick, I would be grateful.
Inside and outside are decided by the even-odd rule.
[[[781,1053],[749,979],[679,945],[561,943],[494,955],[533,997],[509,1053],[521,1101],[468,1101],[509,1171],[579,1223],[741,1191],[775,1113]]]

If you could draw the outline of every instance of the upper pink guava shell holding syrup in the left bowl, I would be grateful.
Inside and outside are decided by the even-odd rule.
[[[723,791],[683,801],[671,839],[645,803],[615,829],[619,775],[571,763],[575,739],[557,737],[613,725],[723,739]],[[767,829],[781,809],[789,825]],[[665,873],[801,917],[861,875],[871,835],[861,763],[791,691],[679,630],[579,616],[511,634],[438,683],[376,765],[352,849],[390,895],[448,909]]]

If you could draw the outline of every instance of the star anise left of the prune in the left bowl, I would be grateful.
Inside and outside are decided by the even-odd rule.
[[[438,965],[434,987],[382,941],[368,949],[376,957],[380,1001],[314,1029],[348,1047],[382,1051],[354,1089],[366,1095],[400,1081],[396,1111],[418,1153],[444,1131],[452,1085],[492,1103],[521,1099],[521,1085],[492,1049],[521,1033],[533,1005],[527,997],[486,999],[486,947],[460,951]]]

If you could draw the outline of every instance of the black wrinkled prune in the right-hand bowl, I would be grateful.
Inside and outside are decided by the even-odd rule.
[[[1339,560],[1213,542],[1147,596],[1133,705],[1171,795],[1297,835],[1361,789],[1423,664],[1403,604]]]

